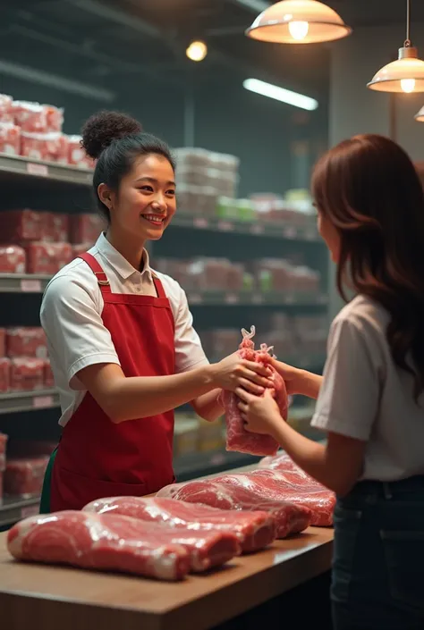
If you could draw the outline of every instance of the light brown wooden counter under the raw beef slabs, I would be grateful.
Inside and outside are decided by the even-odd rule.
[[[179,584],[13,561],[0,534],[4,630],[207,630],[325,573],[333,531],[311,527]]]

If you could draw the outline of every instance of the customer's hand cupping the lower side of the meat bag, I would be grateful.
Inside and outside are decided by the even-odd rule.
[[[284,420],[272,393],[266,390],[263,396],[253,396],[242,387],[238,387],[235,393],[240,399],[238,407],[242,412],[246,431],[275,437],[276,429],[284,424]]]

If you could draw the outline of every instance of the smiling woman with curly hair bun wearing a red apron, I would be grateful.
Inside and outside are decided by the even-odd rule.
[[[91,118],[82,143],[98,160],[93,185],[108,227],[57,273],[41,306],[63,412],[43,512],[172,483],[174,407],[191,401],[215,420],[219,388],[270,384],[235,355],[209,365],[182,288],[148,264],[146,241],[162,237],[176,209],[165,143],[119,113]]]

